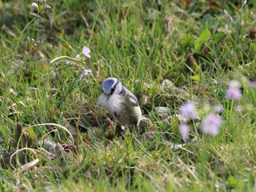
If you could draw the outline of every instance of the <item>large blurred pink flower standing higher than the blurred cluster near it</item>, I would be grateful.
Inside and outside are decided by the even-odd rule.
[[[232,80],[229,83],[228,89],[226,90],[226,98],[239,100],[242,96],[242,91],[240,90],[241,83],[237,80]]]

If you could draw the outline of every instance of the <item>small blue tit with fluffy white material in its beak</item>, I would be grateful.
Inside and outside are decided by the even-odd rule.
[[[117,78],[106,78],[102,84],[103,94],[98,104],[106,107],[114,120],[123,126],[135,126],[138,134],[138,123],[142,118],[142,110],[138,99],[127,90]]]

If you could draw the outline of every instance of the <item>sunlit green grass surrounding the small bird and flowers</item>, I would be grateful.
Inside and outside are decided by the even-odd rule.
[[[8,164],[6,154],[27,146],[36,154],[23,150],[19,161],[39,159],[24,170],[16,158],[16,170],[1,166],[2,191],[256,189],[256,91],[248,86],[256,81],[256,46],[244,38],[256,25],[256,2],[187,2],[49,1],[51,10],[21,34],[34,18],[32,2],[0,1],[0,158]],[[32,38],[41,42],[34,46]],[[83,46],[91,50],[89,60],[50,63],[75,58]],[[92,74],[82,78],[84,69]],[[110,76],[139,100],[146,94],[145,139],[120,137],[118,125],[108,126],[110,114],[97,98]],[[174,86],[161,86],[165,79]],[[242,82],[239,101],[225,97],[231,79]],[[199,119],[189,122],[196,140],[184,143],[175,115],[189,100]],[[217,104],[224,107],[219,134],[200,133],[206,106]],[[160,114],[158,106],[168,111]],[[54,158],[42,149],[44,138],[58,143]]]

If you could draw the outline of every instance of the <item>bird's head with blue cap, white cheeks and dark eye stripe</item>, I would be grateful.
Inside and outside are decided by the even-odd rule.
[[[120,93],[122,91],[122,83],[117,78],[106,78],[102,84],[102,91],[107,96],[113,93]]]

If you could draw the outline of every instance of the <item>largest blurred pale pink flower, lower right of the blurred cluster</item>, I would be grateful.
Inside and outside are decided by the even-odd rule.
[[[222,119],[216,114],[208,114],[202,122],[202,132],[216,136],[218,128],[222,125]]]

